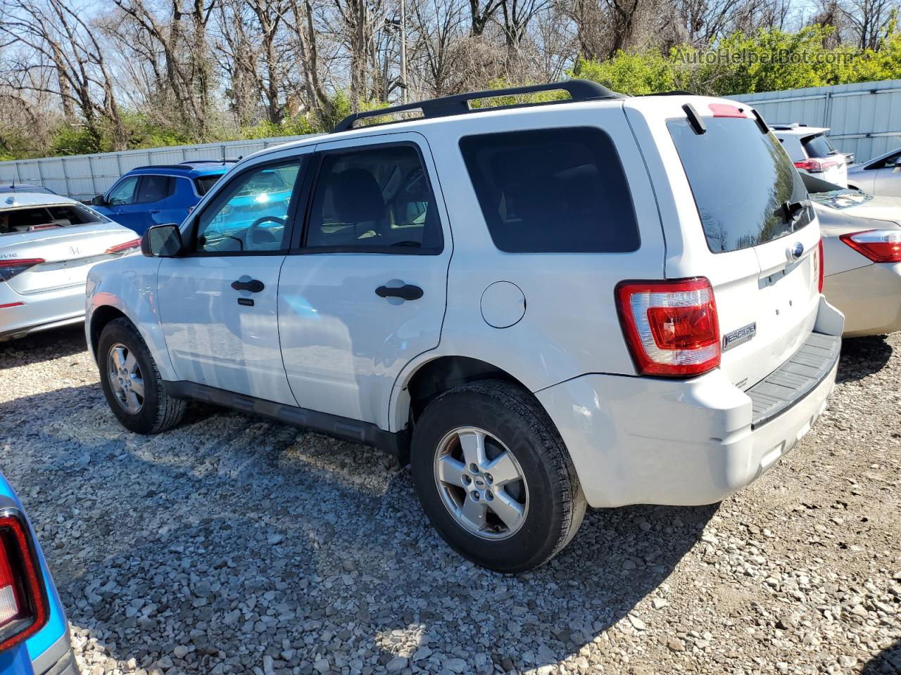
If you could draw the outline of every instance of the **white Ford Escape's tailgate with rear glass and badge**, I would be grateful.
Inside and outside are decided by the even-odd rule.
[[[820,234],[778,139],[737,107],[714,101],[712,108],[705,99],[694,105],[703,133],[678,107],[666,121],[684,169],[684,176],[670,171],[674,191],[690,194],[695,207],[682,216],[689,255],[670,258],[667,275],[710,279],[722,367],[746,389],[794,354],[814,327]]]

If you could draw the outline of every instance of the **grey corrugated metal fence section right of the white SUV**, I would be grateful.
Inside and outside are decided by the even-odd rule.
[[[863,162],[901,148],[901,80],[812,86],[729,98],[751,103],[768,122],[829,127],[842,152]]]

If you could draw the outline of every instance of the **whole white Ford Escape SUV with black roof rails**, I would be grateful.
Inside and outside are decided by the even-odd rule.
[[[814,424],[842,335],[804,185],[740,105],[575,80],[248,157],[91,273],[109,405],[144,434],[196,399],[390,448],[502,572],[586,506],[723,500]]]

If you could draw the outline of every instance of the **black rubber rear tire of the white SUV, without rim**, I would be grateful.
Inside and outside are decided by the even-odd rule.
[[[435,469],[442,441],[452,438],[455,429],[470,427],[506,446],[527,485],[522,524],[505,538],[486,539],[469,531],[442,498]],[[569,544],[585,516],[585,495],[560,434],[532,394],[509,383],[468,383],[432,401],[414,428],[411,471],[423,509],[444,540],[496,572],[525,572],[547,563]]]

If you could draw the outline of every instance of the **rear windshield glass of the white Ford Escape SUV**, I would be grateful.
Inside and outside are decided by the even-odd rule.
[[[785,217],[782,205],[806,200],[807,191],[772,133],[760,133],[751,120],[704,121],[707,130],[700,135],[687,120],[667,125],[711,251],[758,246],[810,222],[810,209],[794,226]]]

